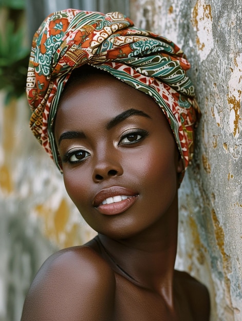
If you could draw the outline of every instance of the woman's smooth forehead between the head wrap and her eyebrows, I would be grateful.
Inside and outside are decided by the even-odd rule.
[[[107,73],[71,77],[59,102],[55,130],[62,125],[96,126],[128,109],[138,109],[170,126],[154,99]],[[161,125],[161,124],[160,124]],[[170,129],[171,130],[171,129]]]

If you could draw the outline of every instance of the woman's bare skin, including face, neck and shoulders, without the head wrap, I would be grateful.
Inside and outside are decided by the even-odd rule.
[[[110,75],[70,84],[55,139],[66,190],[98,236],[46,260],[22,320],[208,321],[206,287],[174,270],[183,167],[165,116]]]

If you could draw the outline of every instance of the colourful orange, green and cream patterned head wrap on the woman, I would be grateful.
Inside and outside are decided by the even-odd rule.
[[[184,53],[168,39],[134,27],[120,12],[67,9],[49,15],[34,34],[26,88],[31,130],[59,169],[54,117],[71,72],[84,64],[105,70],[155,99],[187,168],[199,110]]]

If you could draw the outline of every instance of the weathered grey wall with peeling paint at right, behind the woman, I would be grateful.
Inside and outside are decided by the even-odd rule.
[[[180,188],[177,267],[209,287],[212,321],[242,320],[241,0],[133,0],[131,9],[187,53],[202,111]]]

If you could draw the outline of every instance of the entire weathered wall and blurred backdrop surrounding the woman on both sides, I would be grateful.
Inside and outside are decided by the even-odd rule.
[[[188,55],[202,118],[179,189],[176,268],[206,284],[212,321],[242,320],[242,4],[240,0],[0,0],[0,321],[20,320],[54,251],[96,235],[29,130],[31,39],[56,10],[121,11]]]

